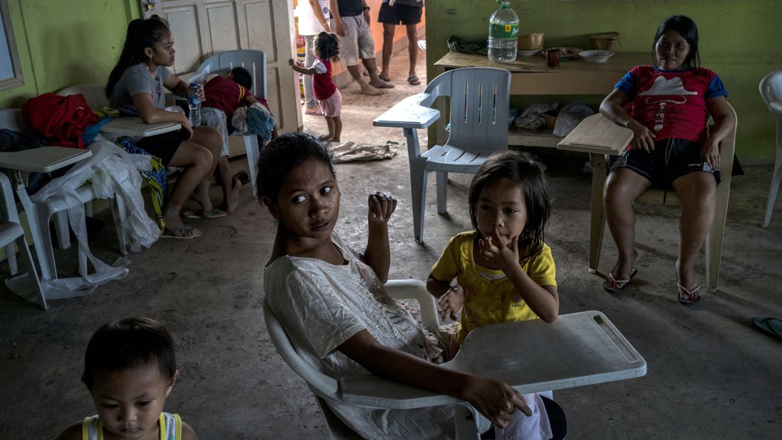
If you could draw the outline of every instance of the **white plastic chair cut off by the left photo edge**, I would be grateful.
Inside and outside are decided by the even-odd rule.
[[[30,248],[27,246],[27,239],[24,238],[24,229],[19,223],[19,213],[16,211],[16,202],[13,199],[11,191],[11,181],[5,173],[0,173],[0,246],[5,247],[5,256],[8,258],[11,275],[16,274],[16,251],[13,249],[13,243],[16,241],[16,247],[22,254],[24,266],[27,267],[27,273],[30,274],[30,281],[33,282],[35,294],[38,295],[38,302],[41,309],[48,309],[46,299],[41,292],[41,281],[38,278],[38,270],[35,269],[33,256],[30,254]]]

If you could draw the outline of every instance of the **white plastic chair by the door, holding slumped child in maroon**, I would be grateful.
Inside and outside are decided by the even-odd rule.
[[[234,50],[216,53],[206,59],[195,71],[195,77],[206,77],[210,73],[227,73],[234,67],[244,67],[253,75],[253,87],[250,93],[257,98],[266,99],[266,53],[259,50]],[[242,135],[235,133],[237,135]],[[258,173],[258,137],[255,134],[244,136],[247,151],[249,177],[253,184],[253,195],[256,195],[255,181]]]

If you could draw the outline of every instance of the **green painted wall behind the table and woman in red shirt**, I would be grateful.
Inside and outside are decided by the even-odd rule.
[[[486,39],[490,0],[427,0],[426,62],[448,52],[450,35],[467,41]],[[619,32],[618,51],[650,52],[659,23],[671,14],[698,23],[701,65],[723,79],[738,114],[737,156],[744,163],[773,163],[774,118],[758,93],[762,77],[782,70],[782,2],[779,0],[511,0],[521,19],[521,34],[543,32],[547,46],[591,48],[590,34]],[[619,80],[619,78],[617,78]],[[535,101],[546,97],[535,98]],[[597,106],[602,97],[551,97]],[[529,98],[514,98],[514,106]]]

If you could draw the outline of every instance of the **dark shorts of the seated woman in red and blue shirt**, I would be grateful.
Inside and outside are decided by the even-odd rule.
[[[686,139],[663,139],[655,142],[655,149],[645,152],[638,148],[622,153],[611,166],[629,168],[651,181],[657,188],[670,188],[671,183],[684,174],[695,171],[712,173],[717,183],[722,174],[701,159],[701,144]]]

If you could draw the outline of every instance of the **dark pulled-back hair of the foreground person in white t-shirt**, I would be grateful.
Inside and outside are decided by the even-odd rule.
[[[264,197],[277,203],[277,198],[290,170],[309,159],[317,159],[328,165],[336,176],[334,163],[328,148],[311,134],[294,132],[274,138],[260,150],[258,157],[258,200]]]

